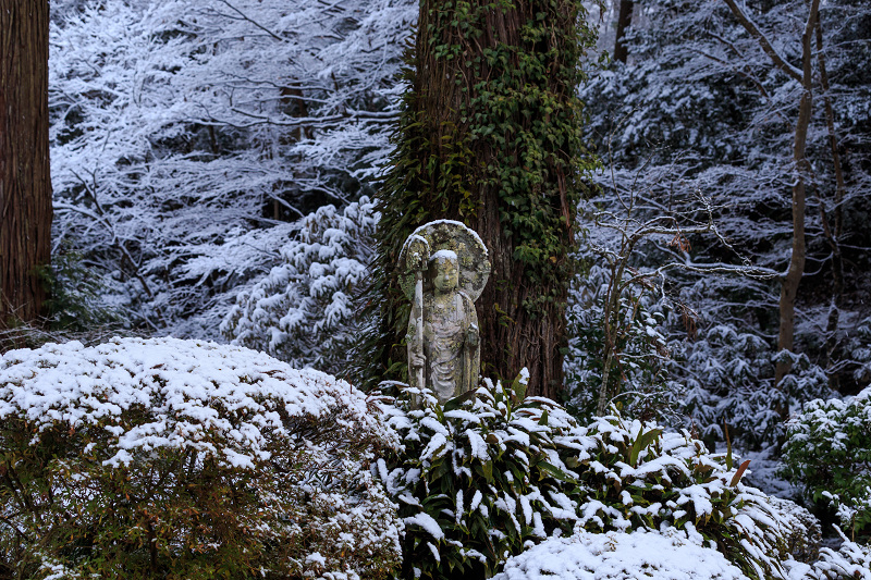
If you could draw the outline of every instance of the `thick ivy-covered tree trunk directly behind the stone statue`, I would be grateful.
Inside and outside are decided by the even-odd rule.
[[[476,303],[483,374],[529,370],[530,394],[563,384],[572,224],[579,200],[578,67],[592,35],[575,0],[422,0],[400,123],[381,198],[382,368],[404,358],[395,258],[414,227],[464,222],[490,251]],[[392,292],[392,294],[391,294]],[[405,300],[402,300],[403,303]]]

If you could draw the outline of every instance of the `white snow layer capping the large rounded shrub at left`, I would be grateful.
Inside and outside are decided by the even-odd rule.
[[[143,422],[122,421],[132,408],[146,411]],[[345,381],[238,346],[114,338],[94,347],[48,344],[0,358],[0,420],[26,417],[36,437],[57,422],[74,429],[102,422],[112,454],[105,464],[111,466],[159,447],[186,447],[252,468],[269,458],[263,430],[285,429],[280,412],[323,417],[336,408],[389,434],[367,411],[366,396]]]

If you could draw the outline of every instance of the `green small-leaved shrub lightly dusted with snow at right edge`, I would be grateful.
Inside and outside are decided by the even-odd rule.
[[[815,399],[787,423],[786,474],[842,523],[871,529],[871,387],[846,399]]]

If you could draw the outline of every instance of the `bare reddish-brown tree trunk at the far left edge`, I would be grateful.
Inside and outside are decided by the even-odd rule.
[[[0,329],[33,322],[51,255],[48,0],[0,0]]]

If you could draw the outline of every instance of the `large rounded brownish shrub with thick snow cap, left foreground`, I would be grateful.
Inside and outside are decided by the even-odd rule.
[[[368,469],[395,445],[389,433],[347,383],[246,348],[12,350],[0,358],[0,569],[390,576],[402,525]]]

